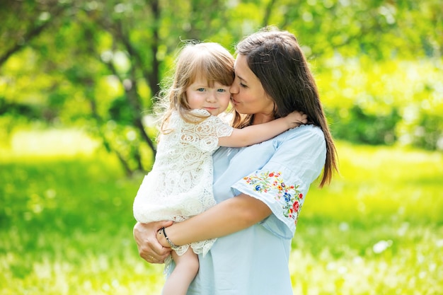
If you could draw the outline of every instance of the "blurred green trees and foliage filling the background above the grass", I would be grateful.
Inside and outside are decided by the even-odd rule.
[[[5,0],[0,140],[81,128],[128,174],[149,170],[152,98],[180,40],[235,43],[265,25],[297,35],[336,138],[443,149],[439,0]]]

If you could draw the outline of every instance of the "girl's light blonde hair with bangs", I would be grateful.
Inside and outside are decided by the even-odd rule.
[[[158,96],[162,133],[168,133],[167,122],[178,111],[186,122],[200,122],[205,117],[190,114],[186,89],[197,79],[206,80],[209,87],[215,82],[231,86],[234,82],[234,57],[222,45],[214,42],[185,42],[176,58],[172,81]],[[171,78],[169,78],[171,80]],[[167,81],[167,80],[165,80]]]

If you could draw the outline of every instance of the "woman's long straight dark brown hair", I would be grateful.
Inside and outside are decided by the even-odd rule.
[[[337,151],[323,112],[318,88],[296,37],[287,31],[267,27],[241,40],[236,53],[246,57],[248,66],[260,79],[275,102],[275,118],[294,110],[308,115],[309,123],[320,127],[326,139],[326,163],[320,187],[330,183],[338,171]],[[234,127],[250,125],[251,115],[236,114]]]

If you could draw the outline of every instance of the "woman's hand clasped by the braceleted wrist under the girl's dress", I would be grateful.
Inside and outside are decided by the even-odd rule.
[[[171,253],[171,248],[163,247],[157,241],[156,234],[162,227],[168,227],[172,221],[157,221],[149,224],[137,222],[134,226],[134,239],[141,258],[149,263],[163,263]]]

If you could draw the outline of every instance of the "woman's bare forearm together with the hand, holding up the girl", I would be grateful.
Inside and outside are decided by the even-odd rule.
[[[241,194],[173,225],[171,221],[137,223],[134,226],[134,238],[141,258],[149,263],[163,263],[171,252],[166,238],[159,231],[163,226],[167,227],[166,234],[175,245],[185,245],[241,231],[270,214],[271,211],[265,203]]]

